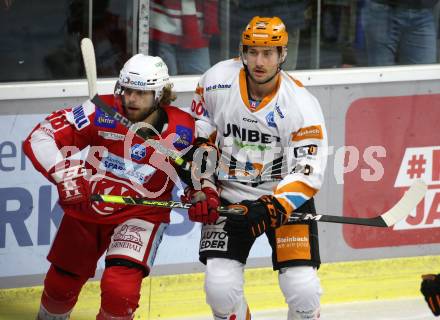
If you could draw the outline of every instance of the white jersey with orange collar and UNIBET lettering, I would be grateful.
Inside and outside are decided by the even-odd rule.
[[[249,104],[238,59],[222,61],[200,78],[191,113],[196,135],[221,152],[217,179],[230,202],[274,194],[291,212],[320,189],[327,133],[318,100],[284,71],[257,108]]]

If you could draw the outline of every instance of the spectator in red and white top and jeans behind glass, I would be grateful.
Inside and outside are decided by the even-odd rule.
[[[169,74],[202,74],[210,66],[209,40],[219,33],[217,0],[152,0],[151,53]]]

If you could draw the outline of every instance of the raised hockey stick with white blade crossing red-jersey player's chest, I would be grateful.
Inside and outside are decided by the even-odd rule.
[[[97,86],[96,86],[97,73],[96,73],[95,49],[93,48],[93,43],[89,38],[84,38],[81,40],[81,53],[84,60],[84,68],[86,70],[87,84],[89,87],[89,98],[91,99],[91,101],[99,109],[105,112],[108,116],[115,119],[124,127],[126,127],[128,130],[132,131],[137,136],[144,139],[147,145],[157,150],[158,152],[168,156],[169,158],[173,159],[173,161],[177,165],[182,167],[184,170],[189,170],[190,169],[189,163],[185,161],[178,152],[166,148],[159,141],[150,139],[150,137],[145,131],[141,129],[139,130],[134,129],[132,127],[133,123],[130,120],[128,120],[126,117],[124,117],[122,114],[117,112],[112,107],[108,106],[104,101],[102,101],[102,99],[98,96]]]

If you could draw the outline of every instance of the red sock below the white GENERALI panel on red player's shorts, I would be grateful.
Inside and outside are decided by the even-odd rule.
[[[143,277],[144,271],[138,268],[106,268],[101,279],[101,310],[96,319],[132,319],[139,306]]]

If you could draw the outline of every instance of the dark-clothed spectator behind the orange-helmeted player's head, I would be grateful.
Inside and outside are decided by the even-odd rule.
[[[243,30],[243,26],[254,16],[280,17],[289,33],[287,59],[284,70],[294,70],[297,66],[300,31],[307,25],[306,12],[309,0],[235,0],[231,5],[231,30]],[[240,43],[240,32],[231,32],[232,56],[236,56]]]

